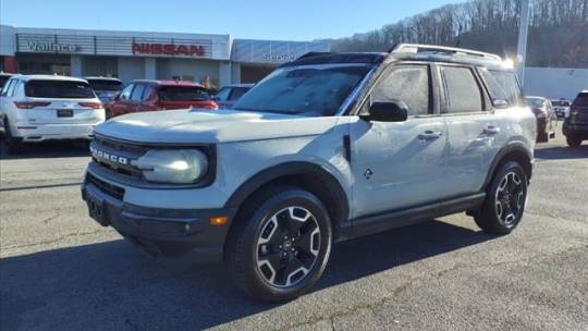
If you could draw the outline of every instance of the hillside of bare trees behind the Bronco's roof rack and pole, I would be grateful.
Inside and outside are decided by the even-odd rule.
[[[473,48],[516,54],[519,0],[470,0],[445,5],[353,37],[333,51],[385,51],[397,42]],[[588,0],[529,0],[528,66],[588,68]]]

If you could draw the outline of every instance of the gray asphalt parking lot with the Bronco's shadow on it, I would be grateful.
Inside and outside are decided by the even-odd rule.
[[[243,297],[222,266],[154,258],[87,217],[83,146],[0,160],[1,330],[588,330],[588,143],[538,145],[507,236],[465,214],[335,245],[310,294]]]

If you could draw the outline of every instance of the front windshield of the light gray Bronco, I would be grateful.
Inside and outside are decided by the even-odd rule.
[[[279,69],[246,93],[233,109],[334,115],[370,69],[332,64]]]

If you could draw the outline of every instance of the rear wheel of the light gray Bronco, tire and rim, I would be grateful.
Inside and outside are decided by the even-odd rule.
[[[507,161],[500,166],[487,189],[486,200],[474,216],[476,224],[486,232],[511,233],[523,218],[527,185],[527,175],[520,164]]]

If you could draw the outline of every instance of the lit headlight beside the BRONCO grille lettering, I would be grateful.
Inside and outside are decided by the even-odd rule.
[[[208,158],[197,149],[151,149],[132,161],[149,182],[192,184],[208,170]]]

